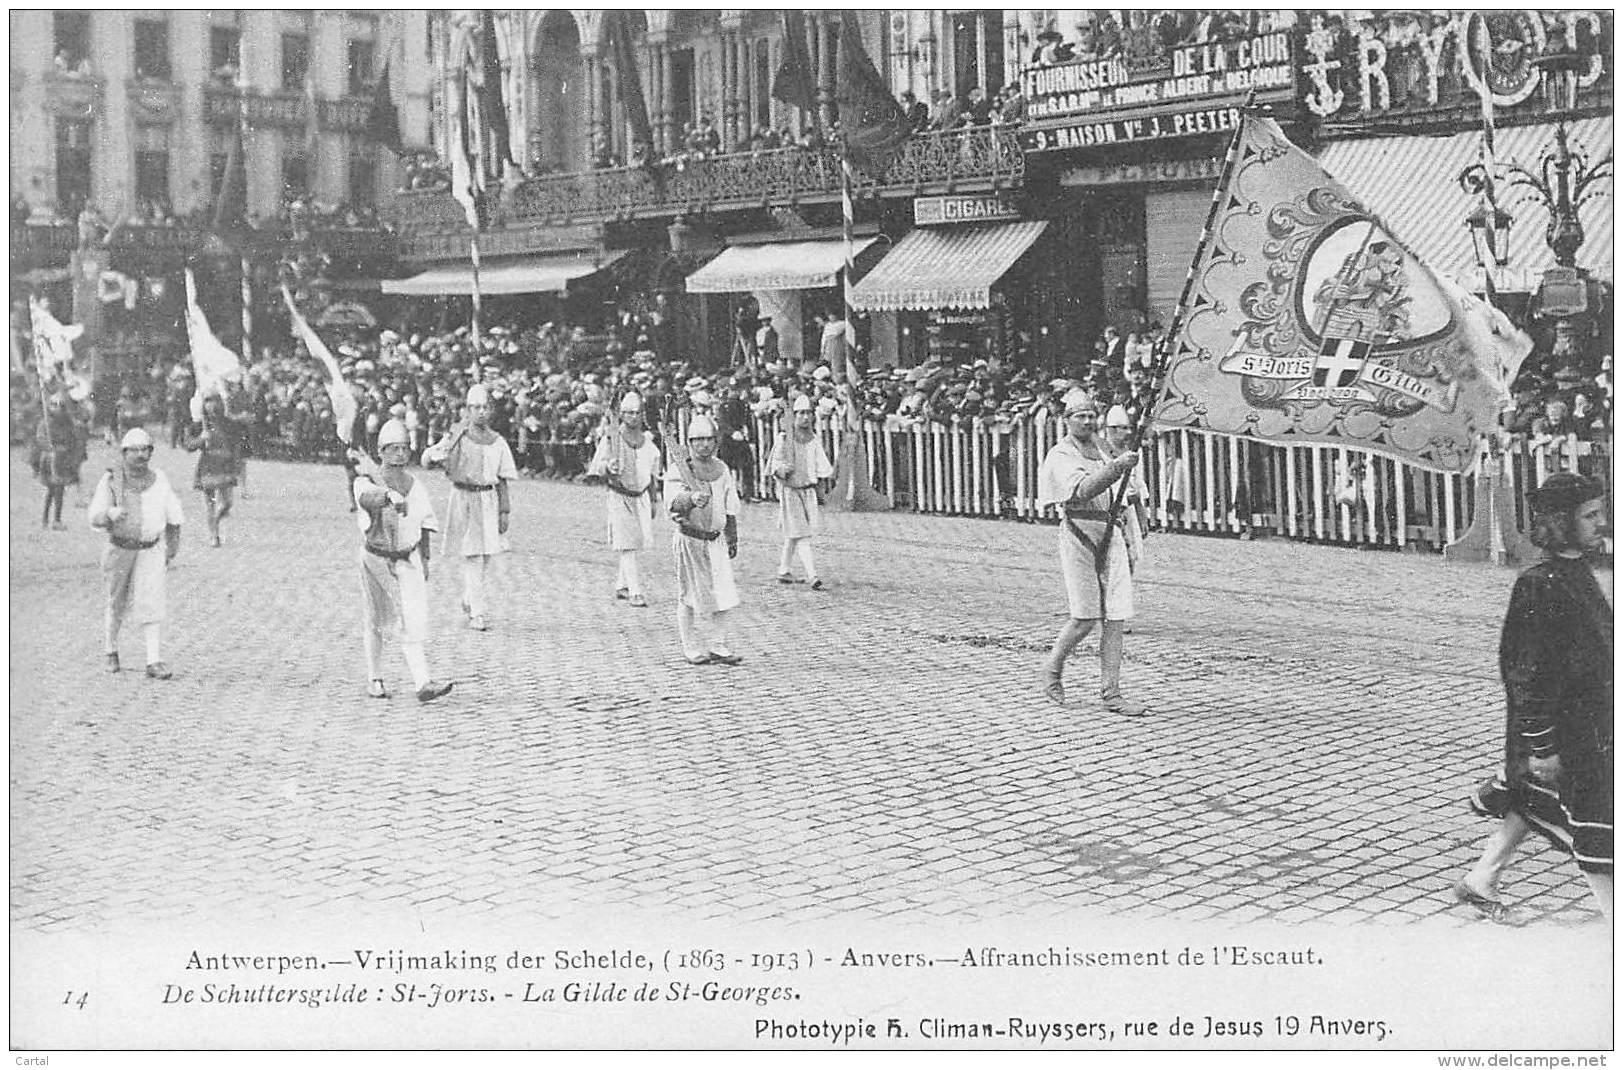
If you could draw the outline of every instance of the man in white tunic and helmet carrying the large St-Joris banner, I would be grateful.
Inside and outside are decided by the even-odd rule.
[[[1042,671],[1044,695],[1065,705],[1065,659],[1094,623],[1099,636],[1099,700],[1110,713],[1143,716],[1144,706],[1121,695],[1121,635],[1133,617],[1133,575],[1121,531],[1110,531],[1110,505],[1118,479],[1138,468],[1138,451],[1109,456],[1097,438],[1099,404],[1074,390],[1065,399],[1066,435],[1048,450],[1037,469],[1037,505],[1058,505],[1060,572],[1071,619],[1060,628]],[[1105,533],[1110,531],[1109,549]],[[1100,552],[1104,560],[1100,560]]]

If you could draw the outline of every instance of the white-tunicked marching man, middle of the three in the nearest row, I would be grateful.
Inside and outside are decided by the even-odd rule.
[[[365,458],[355,451],[359,463]],[[367,651],[367,693],[388,698],[383,684],[383,630],[398,628],[401,654],[411,671],[417,701],[433,701],[451,690],[428,674],[428,539],[440,523],[428,489],[406,471],[411,459],[406,425],[390,421],[378,430],[377,472],[355,477],[355,521],[365,534],[360,554],[362,641]]]

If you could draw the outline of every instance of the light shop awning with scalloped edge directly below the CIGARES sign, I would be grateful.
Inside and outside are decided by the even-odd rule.
[[[992,284],[1031,248],[1045,221],[919,227],[852,287],[850,307],[985,308]]]

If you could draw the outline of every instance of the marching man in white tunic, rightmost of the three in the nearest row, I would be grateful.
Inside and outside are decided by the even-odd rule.
[[[688,664],[735,666],[743,661],[727,648],[727,611],[738,606],[732,559],[738,555],[738,485],[732,469],[716,459],[716,421],[695,416],[688,424],[688,461],[672,453],[665,469],[665,500],[677,533],[677,638]],[[706,645],[700,628],[709,632]]]

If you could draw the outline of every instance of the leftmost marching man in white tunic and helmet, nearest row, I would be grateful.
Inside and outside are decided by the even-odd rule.
[[[159,632],[166,573],[180,552],[180,498],[169,477],[153,468],[153,437],[144,430],[131,427],[118,453],[118,466],[96,484],[89,507],[91,528],[107,531],[107,672],[118,671],[118,630],[133,615],[146,638],[146,675],[167,680],[172,674]]]

